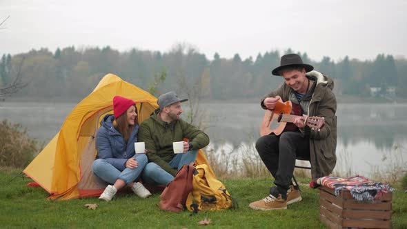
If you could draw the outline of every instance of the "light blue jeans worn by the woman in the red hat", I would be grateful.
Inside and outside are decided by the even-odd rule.
[[[108,183],[115,183],[117,179],[121,179],[126,184],[132,183],[138,177],[140,177],[141,172],[143,171],[144,167],[146,167],[148,159],[147,156],[144,154],[135,155],[133,158],[139,163],[137,168],[125,168],[123,171],[118,170],[115,166],[108,163],[108,161],[104,159],[96,159],[92,163],[92,171],[93,174],[106,181]]]

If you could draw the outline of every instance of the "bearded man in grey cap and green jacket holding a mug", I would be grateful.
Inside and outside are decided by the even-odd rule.
[[[143,170],[146,183],[167,185],[183,165],[197,159],[199,149],[208,146],[208,135],[179,116],[184,101],[188,99],[179,99],[175,92],[161,94],[159,108],[140,124],[137,139],[146,144],[148,157]],[[179,141],[183,142],[183,153],[175,154],[172,143]]]

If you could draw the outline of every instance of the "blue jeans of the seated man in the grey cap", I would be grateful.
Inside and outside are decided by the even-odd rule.
[[[178,170],[182,168],[183,165],[188,165],[197,159],[198,150],[190,150],[186,153],[177,154],[170,162],[172,168],[177,168]],[[143,182],[152,185],[168,185],[174,177],[163,170],[159,165],[154,162],[147,164],[143,171]]]

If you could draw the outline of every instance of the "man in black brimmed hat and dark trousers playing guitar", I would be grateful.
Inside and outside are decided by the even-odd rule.
[[[273,110],[279,99],[291,101],[291,114],[299,117],[293,119],[295,126],[290,130],[286,128],[281,135],[265,135],[256,142],[261,160],[275,178],[275,186],[266,198],[250,203],[255,210],[286,209],[288,204],[301,201],[299,190],[291,185],[296,158],[310,161],[313,180],[329,175],[336,163],[337,102],[332,79],[303,63],[297,54],[282,56],[280,63],[272,74],[283,77],[285,82],[261,99],[261,108]],[[324,117],[324,126],[313,130],[301,115]]]

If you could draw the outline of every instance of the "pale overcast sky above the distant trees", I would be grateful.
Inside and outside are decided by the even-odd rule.
[[[167,52],[187,43],[242,59],[270,50],[320,61],[407,57],[407,1],[0,0],[0,54],[110,46]]]

